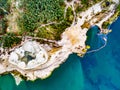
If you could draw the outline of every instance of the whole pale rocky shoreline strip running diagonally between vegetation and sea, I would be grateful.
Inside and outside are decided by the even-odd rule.
[[[103,31],[107,32],[107,30],[102,29],[102,23],[115,12],[114,8],[117,3],[111,4],[106,12],[102,12],[104,8],[101,7],[101,3],[97,3],[79,14],[77,21],[62,33],[61,40],[56,41],[58,47],[40,44],[35,40],[26,38],[19,47],[12,49],[13,51],[10,53],[3,54],[4,50],[0,48],[0,74],[17,71],[27,80],[45,79],[51,75],[55,68],[65,62],[70,54],[77,53],[79,56],[83,56],[88,49],[85,41],[89,28],[92,25],[98,25],[102,33],[104,33]],[[101,18],[97,17],[98,13],[102,13],[103,16]],[[23,60],[25,52],[29,53]],[[28,62],[25,63],[25,61]],[[20,76],[19,74],[17,75]],[[16,74],[13,73],[13,75]]]

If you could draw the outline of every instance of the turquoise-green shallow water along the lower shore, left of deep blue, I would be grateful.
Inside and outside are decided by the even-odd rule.
[[[80,90],[83,84],[84,76],[80,58],[75,54],[45,80],[22,81],[19,86],[16,86],[10,74],[0,78],[0,90]]]

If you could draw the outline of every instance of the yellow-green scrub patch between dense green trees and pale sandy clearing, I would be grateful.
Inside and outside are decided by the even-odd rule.
[[[38,28],[38,37],[60,40],[60,36],[64,30],[69,27],[73,21],[73,11],[71,8],[67,9],[66,18],[60,23]]]

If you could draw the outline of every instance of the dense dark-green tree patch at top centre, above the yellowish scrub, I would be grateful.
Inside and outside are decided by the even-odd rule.
[[[34,31],[41,24],[59,22],[63,19],[64,0],[23,0],[21,6],[24,10],[18,19],[22,31]]]

